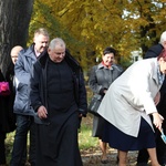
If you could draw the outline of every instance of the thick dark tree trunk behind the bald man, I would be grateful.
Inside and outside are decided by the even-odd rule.
[[[27,45],[33,0],[0,0],[0,69],[7,74],[14,45]]]

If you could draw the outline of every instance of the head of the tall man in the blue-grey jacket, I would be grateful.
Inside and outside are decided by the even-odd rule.
[[[38,53],[42,53],[49,45],[49,33],[44,28],[40,28],[34,32],[34,49]]]

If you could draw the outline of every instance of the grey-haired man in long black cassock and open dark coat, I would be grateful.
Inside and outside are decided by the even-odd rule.
[[[79,63],[56,38],[34,64],[31,104],[37,112],[37,166],[82,166],[79,117],[86,116],[86,91]]]

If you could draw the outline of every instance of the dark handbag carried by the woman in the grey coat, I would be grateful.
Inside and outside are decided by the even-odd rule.
[[[103,96],[100,94],[94,94],[93,97],[91,98],[91,102],[87,106],[87,112],[95,115],[95,116],[100,116],[97,113],[97,110],[100,107],[100,104],[102,102]]]

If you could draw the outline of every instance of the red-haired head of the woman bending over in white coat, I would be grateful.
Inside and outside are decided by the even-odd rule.
[[[159,70],[163,74],[166,74],[166,49],[157,56],[159,63]]]

